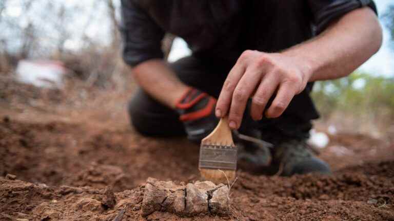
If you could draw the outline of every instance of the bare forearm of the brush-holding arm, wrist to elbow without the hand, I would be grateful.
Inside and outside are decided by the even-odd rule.
[[[382,43],[382,29],[375,13],[361,8],[347,13],[316,38],[283,53],[305,59],[308,81],[336,79],[349,75]]]

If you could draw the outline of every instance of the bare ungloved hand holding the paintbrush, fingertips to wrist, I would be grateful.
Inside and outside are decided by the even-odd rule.
[[[238,129],[242,122],[246,103],[252,98],[250,115],[261,120],[282,115],[294,95],[301,93],[312,71],[301,57],[285,53],[264,53],[247,50],[238,59],[224,82],[215,115],[228,114],[229,126]],[[266,104],[275,94],[265,113]]]

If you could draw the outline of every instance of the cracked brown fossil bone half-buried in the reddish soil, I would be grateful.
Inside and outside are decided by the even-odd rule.
[[[142,216],[154,211],[170,212],[180,216],[200,214],[228,215],[227,186],[210,181],[180,185],[172,181],[148,178],[142,201]]]

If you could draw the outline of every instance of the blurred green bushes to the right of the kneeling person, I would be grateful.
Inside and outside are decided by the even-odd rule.
[[[323,117],[340,111],[394,118],[394,78],[355,72],[347,78],[316,82],[312,96]]]

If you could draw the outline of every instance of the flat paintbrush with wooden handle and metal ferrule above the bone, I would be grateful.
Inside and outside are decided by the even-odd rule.
[[[201,176],[213,183],[227,183],[235,179],[237,147],[232,141],[227,117],[201,141],[199,169]]]

